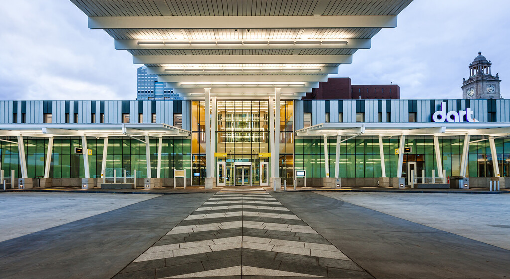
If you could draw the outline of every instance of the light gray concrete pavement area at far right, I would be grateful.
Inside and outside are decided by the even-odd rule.
[[[508,194],[320,194],[510,250]]]

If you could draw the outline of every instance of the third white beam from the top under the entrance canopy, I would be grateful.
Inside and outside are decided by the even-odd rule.
[[[352,55],[134,55],[134,64],[350,64]]]

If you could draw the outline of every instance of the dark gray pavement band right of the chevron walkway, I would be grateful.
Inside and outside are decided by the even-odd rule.
[[[506,249],[316,193],[272,195],[375,278],[510,274]]]

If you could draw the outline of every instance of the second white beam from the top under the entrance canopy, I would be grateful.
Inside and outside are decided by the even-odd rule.
[[[115,49],[369,49],[370,39],[338,39],[330,41],[327,39],[312,40],[284,40],[285,43],[278,43],[275,40],[264,40],[267,43],[243,43],[252,41],[245,39],[235,40],[114,40]],[[263,40],[260,40],[261,42]],[[294,41],[294,43],[292,43]],[[300,43],[304,41],[306,43]],[[207,43],[206,43],[207,42]],[[316,43],[313,43],[316,42]],[[321,43],[322,42],[322,43]],[[338,43],[335,43],[338,42]]]

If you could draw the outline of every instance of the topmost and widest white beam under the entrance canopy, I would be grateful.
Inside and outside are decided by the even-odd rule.
[[[89,16],[89,29],[396,28],[397,16]]]

